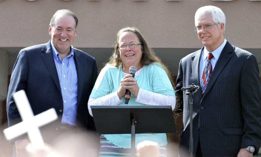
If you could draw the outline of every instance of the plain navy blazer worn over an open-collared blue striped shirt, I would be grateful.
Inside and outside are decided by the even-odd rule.
[[[75,48],[74,60],[78,78],[77,128],[81,127],[95,131],[93,117],[88,112],[87,103],[97,79],[96,60],[87,53]],[[61,123],[63,99],[50,41],[46,44],[27,47],[19,52],[12,70],[7,96],[9,126],[21,121],[14,99],[12,98],[13,93],[21,89],[26,91],[35,115],[50,108],[55,108],[59,119],[56,123],[54,122],[48,125],[48,127],[44,126],[41,128],[42,130],[44,130],[43,128],[48,130],[49,138],[44,138],[44,140],[52,140],[57,136],[55,129],[59,128]],[[17,139],[19,138],[14,140]]]

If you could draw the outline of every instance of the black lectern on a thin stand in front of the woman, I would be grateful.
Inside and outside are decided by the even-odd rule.
[[[100,134],[131,134],[131,156],[135,156],[135,133],[175,133],[171,106],[91,106]]]

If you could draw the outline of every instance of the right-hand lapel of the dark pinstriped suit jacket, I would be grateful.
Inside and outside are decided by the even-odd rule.
[[[220,72],[223,70],[223,68],[225,67],[225,65],[227,64],[227,62],[229,61],[229,59],[232,56],[233,49],[232,49],[232,45],[227,41],[225,47],[223,48],[220,57],[218,58],[218,62],[215,65],[215,68],[211,74],[211,78],[209,80],[209,83],[206,87],[206,91],[203,95],[203,98],[208,94],[209,90],[211,89],[211,87],[213,86],[213,84],[215,83],[215,81],[217,80]]]

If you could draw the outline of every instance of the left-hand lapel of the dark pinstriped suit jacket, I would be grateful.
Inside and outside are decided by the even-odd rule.
[[[203,47],[204,48],[204,47]],[[191,67],[192,67],[192,83],[194,83],[197,86],[200,86],[200,80],[199,80],[199,65],[200,65],[200,56],[202,53],[202,50],[198,50],[197,52],[195,52],[195,55],[191,57]],[[200,91],[198,91],[197,93],[202,93],[202,90],[200,88]]]

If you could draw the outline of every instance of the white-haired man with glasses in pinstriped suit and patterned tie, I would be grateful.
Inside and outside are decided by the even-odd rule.
[[[189,95],[194,83],[193,156],[250,157],[261,144],[261,85],[255,56],[224,38],[226,18],[220,8],[195,13],[202,49],[180,61],[176,90],[183,104],[180,156],[189,156]],[[211,54],[212,53],[212,54]]]

